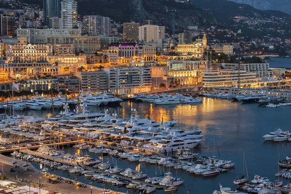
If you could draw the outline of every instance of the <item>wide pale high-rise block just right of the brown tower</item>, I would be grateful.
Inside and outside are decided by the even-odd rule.
[[[139,39],[140,41],[154,41],[158,42],[158,39],[165,38],[165,27],[155,25],[144,25],[139,27]]]

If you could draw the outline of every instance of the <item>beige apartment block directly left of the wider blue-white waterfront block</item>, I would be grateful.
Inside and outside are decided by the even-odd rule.
[[[107,78],[104,71],[76,72],[81,82],[81,90],[87,92],[103,92],[107,90]]]

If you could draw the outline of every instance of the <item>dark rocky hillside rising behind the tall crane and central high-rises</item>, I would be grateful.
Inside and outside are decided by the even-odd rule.
[[[90,6],[88,6],[90,4]],[[176,25],[209,26],[216,23],[214,17],[191,3],[179,3],[174,0],[78,0],[78,13],[81,15],[109,16],[118,22],[129,20],[144,24],[150,19],[154,24],[172,26],[172,13],[177,10]]]

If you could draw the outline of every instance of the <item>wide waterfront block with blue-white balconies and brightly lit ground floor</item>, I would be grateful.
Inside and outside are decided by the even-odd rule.
[[[105,68],[110,93],[124,95],[150,92],[152,87],[149,67]]]

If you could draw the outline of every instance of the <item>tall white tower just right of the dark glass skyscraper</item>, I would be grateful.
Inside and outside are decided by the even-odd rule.
[[[63,0],[61,6],[63,29],[71,29],[73,26],[77,26],[77,1]]]

